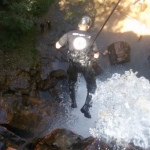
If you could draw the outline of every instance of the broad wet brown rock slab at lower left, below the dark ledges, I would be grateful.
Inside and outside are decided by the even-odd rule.
[[[0,97],[0,124],[17,131],[19,136],[33,137],[52,128],[57,115],[59,119],[63,117],[61,111],[64,109],[60,109],[58,102],[29,97],[27,104],[24,103],[21,97],[13,94]]]

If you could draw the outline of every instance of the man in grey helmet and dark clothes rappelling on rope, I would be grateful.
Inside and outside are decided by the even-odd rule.
[[[78,24],[78,30],[67,32],[55,44],[56,49],[60,49],[66,44],[69,45],[69,68],[67,73],[69,76],[68,83],[72,108],[77,108],[75,86],[78,73],[82,73],[84,76],[87,87],[87,96],[85,104],[81,108],[81,112],[86,118],[91,118],[89,108],[92,107],[92,96],[97,87],[92,59],[97,59],[100,55],[96,43],[94,42],[92,44],[92,36],[88,32],[91,23],[92,21],[89,16],[83,16]]]

